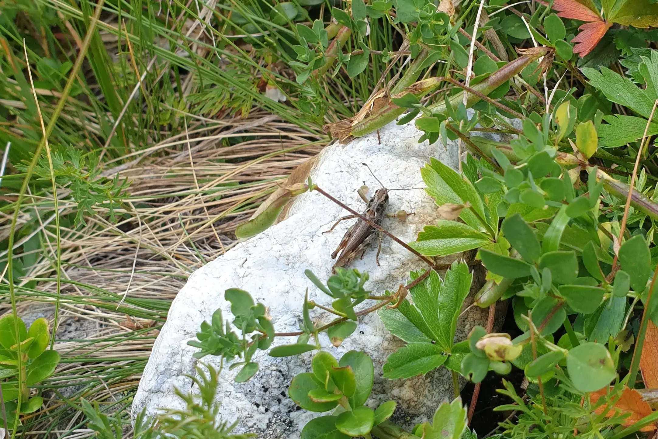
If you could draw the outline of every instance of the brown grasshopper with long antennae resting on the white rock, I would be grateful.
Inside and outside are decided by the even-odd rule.
[[[388,207],[388,192],[390,192],[390,190],[384,188],[384,184],[382,184],[382,182],[380,182],[379,179],[374,176],[374,173],[370,167],[368,167],[368,165],[365,163],[363,163],[363,165],[367,167],[368,170],[370,170],[370,174],[372,174],[374,179],[377,180],[377,182],[382,186],[381,189],[378,189],[374,192],[374,196],[370,199],[366,197],[364,191],[359,190],[359,197],[361,197],[361,199],[367,203],[367,207],[363,212],[363,216],[378,226],[381,226],[384,217],[388,216],[386,215],[386,208]],[[397,214],[392,216],[399,217],[400,215]],[[341,221],[353,218],[357,218],[357,216],[346,215],[345,217],[338,219],[332,228],[323,233],[331,232],[334,230],[334,228],[336,228],[336,226],[338,226]],[[332,267],[332,272],[336,272],[336,268],[343,267],[353,261],[353,259],[355,259],[359,253],[361,253],[361,257],[363,257],[368,244],[372,242],[375,234],[378,236],[379,241],[375,259],[377,261],[377,265],[379,265],[379,253],[382,251],[382,238],[384,238],[384,234],[382,234],[382,232],[378,232],[373,226],[364,220],[359,219],[357,222],[352,224],[352,226],[350,226],[347,232],[345,232],[345,235],[343,235],[343,239],[340,241],[340,244],[338,244],[338,247],[336,247],[334,253],[331,254],[332,259],[336,259],[336,256],[338,256],[336,263],[334,263],[334,266]]]

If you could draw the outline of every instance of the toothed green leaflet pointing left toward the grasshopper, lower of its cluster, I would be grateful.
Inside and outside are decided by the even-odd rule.
[[[436,226],[425,226],[409,246],[427,256],[447,256],[482,247],[490,242],[488,236],[468,224],[438,220]]]

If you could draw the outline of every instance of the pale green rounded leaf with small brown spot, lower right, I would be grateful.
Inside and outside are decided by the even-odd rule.
[[[569,351],[567,371],[574,387],[580,392],[601,390],[617,376],[608,349],[592,342],[580,344]]]

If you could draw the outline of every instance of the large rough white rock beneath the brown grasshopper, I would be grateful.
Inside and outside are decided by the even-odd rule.
[[[430,157],[457,168],[457,145],[449,142],[417,143],[422,133],[413,126],[389,124],[380,130],[381,143],[376,133],[357,139],[347,145],[335,143],[319,155],[311,171],[313,182],[353,209],[363,211],[364,203],[357,190],[365,180],[370,194],[379,187],[367,168],[368,163],[383,184],[389,188],[418,188],[424,186],[419,169]],[[496,139],[498,140],[498,139]],[[423,190],[393,191],[390,193],[389,212],[404,209],[416,215],[406,222],[384,219],[384,227],[409,242],[426,224],[436,220],[436,205]],[[255,301],[270,308],[272,321],[278,332],[295,331],[301,321],[301,305],[308,288],[309,298],[322,305],[330,305],[330,297],[313,286],[304,276],[311,269],[321,280],[330,276],[334,261],[330,253],[340,242],[343,233],[353,223],[347,220],[333,232],[322,234],[345,211],[317,192],[304,194],[293,201],[288,218],[262,234],[242,242],[225,255],[194,272],[188,283],[171,305],[166,324],[159,334],[149,362],[134,398],[133,414],[146,407],[148,413],[157,413],[161,407],[180,407],[174,395],[174,386],[190,392],[191,381],[184,374],[193,373],[196,363],[192,354],[197,350],[187,345],[195,340],[202,321],[209,321],[213,311],[221,308],[230,317],[229,303],[224,290],[237,287],[251,293]],[[384,238],[380,264],[375,263],[376,243],[371,244],[365,256],[348,268],[368,271],[367,289],[383,293],[396,290],[410,270],[425,267],[415,255],[401,245]],[[482,282],[482,271],[476,270],[474,289]],[[470,303],[471,299],[467,299]],[[363,306],[369,306],[363,303]],[[313,310],[318,324],[331,320],[327,313]],[[485,324],[487,311],[472,309],[458,325],[457,337],[465,338],[473,324]],[[273,346],[294,342],[295,338],[276,338]],[[352,336],[340,348],[334,348],[326,336],[320,334],[324,349],[340,357],[351,349],[360,349],[372,357],[375,364],[375,384],[368,405],[376,405],[388,398],[398,402],[395,419],[402,425],[413,425],[428,417],[442,400],[452,398],[451,374],[440,368],[426,376],[409,380],[381,378],[386,357],[403,342],[392,336],[376,315],[367,315],[359,321]],[[258,351],[255,361],[259,372],[243,384],[234,382],[239,369],[224,368],[220,376],[218,397],[222,402],[220,415],[233,422],[240,417],[238,431],[257,432],[259,438],[299,438],[299,431],[317,413],[297,409],[287,396],[290,380],[297,373],[310,371],[313,352],[298,357],[273,358]],[[218,367],[217,357],[202,361]]]

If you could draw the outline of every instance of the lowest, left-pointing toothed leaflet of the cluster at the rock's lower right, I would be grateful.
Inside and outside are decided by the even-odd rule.
[[[384,377],[393,380],[426,374],[445,363],[446,359],[445,351],[436,344],[409,343],[388,356],[383,368]]]

